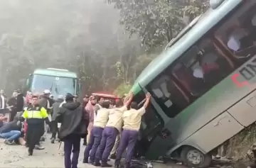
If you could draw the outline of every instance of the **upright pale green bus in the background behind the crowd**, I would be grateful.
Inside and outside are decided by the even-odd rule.
[[[58,95],[65,96],[67,93],[79,95],[80,80],[75,72],[67,69],[35,69],[23,87],[23,91],[29,90],[40,94],[49,89],[54,98],[57,98]]]

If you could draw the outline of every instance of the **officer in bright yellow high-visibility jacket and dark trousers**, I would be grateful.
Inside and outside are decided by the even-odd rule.
[[[32,96],[31,104],[24,109],[20,121],[25,120],[28,124],[26,132],[28,155],[31,156],[35,145],[38,144],[41,138],[44,122],[50,124],[46,108],[38,105],[38,96]]]

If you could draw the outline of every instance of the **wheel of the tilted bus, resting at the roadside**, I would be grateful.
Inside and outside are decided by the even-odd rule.
[[[188,167],[208,167],[212,160],[209,154],[204,155],[201,151],[194,147],[183,147],[181,150],[181,160],[188,165]]]

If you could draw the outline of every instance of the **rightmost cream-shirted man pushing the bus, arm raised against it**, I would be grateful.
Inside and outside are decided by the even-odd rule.
[[[129,168],[131,165],[132,156],[134,154],[134,146],[137,142],[139,135],[139,128],[142,123],[142,116],[146,112],[146,107],[149,105],[151,95],[146,94],[146,101],[142,108],[138,109],[137,102],[131,103],[131,109],[124,111],[122,119],[124,121],[123,131],[121,135],[120,144],[117,150],[117,159],[114,162],[114,167],[119,168],[122,153],[127,148],[127,155],[125,157],[125,168]]]

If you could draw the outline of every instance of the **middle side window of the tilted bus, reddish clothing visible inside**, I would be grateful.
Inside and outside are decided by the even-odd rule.
[[[232,71],[227,58],[210,39],[203,39],[173,65],[172,73],[196,99]]]

